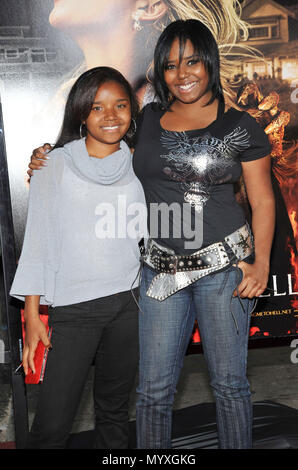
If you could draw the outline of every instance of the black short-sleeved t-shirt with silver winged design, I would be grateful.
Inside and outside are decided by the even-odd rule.
[[[158,103],[142,110],[134,171],[141,181],[151,238],[176,253],[192,253],[245,223],[234,183],[241,162],[270,153],[268,138],[248,113],[230,108],[204,129],[174,132],[162,128]]]

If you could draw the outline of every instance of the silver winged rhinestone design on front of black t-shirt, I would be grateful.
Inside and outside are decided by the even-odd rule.
[[[249,134],[237,127],[221,140],[209,133],[191,137],[186,132],[163,131],[161,143],[168,150],[161,155],[168,163],[163,172],[180,182],[184,200],[201,212],[212,186],[231,180],[229,169],[249,147]]]

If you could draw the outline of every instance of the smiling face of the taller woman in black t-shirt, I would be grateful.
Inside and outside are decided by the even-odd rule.
[[[209,94],[209,74],[189,40],[185,43],[182,58],[179,39],[173,41],[164,80],[173,97],[181,103],[195,103]]]

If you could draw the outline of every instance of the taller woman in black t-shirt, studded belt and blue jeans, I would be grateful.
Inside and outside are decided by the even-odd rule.
[[[195,316],[219,447],[250,448],[247,343],[274,232],[270,146],[252,117],[225,109],[217,44],[202,23],[170,24],[154,62],[160,104],[143,109],[133,159],[150,234],[140,287],[137,445],[171,447],[174,393]],[[253,236],[233,192],[241,174]]]

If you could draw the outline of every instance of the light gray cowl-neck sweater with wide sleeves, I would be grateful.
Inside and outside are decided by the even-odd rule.
[[[85,139],[49,154],[31,178],[26,231],[10,295],[61,306],[129,290],[146,236],[146,205],[128,146],[98,159]]]

